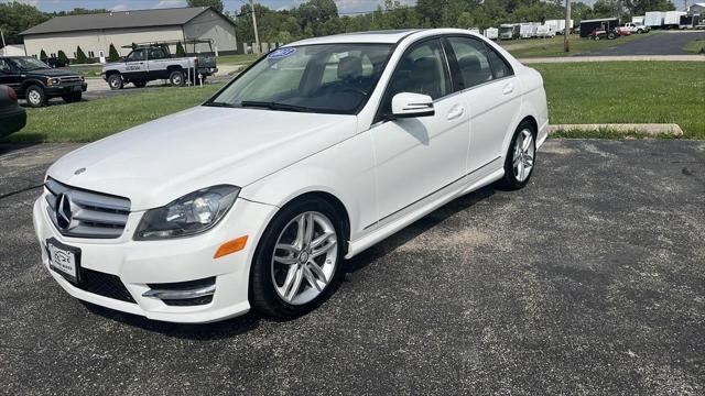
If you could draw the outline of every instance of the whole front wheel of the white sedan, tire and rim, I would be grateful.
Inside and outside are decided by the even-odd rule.
[[[250,301],[261,314],[291,319],[321,305],[343,274],[340,217],[325,200],[304,198],[271,221],[254,253]]]

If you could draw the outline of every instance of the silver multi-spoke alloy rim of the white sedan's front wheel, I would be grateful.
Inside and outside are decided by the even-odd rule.
[[[330,219],[317,211],[296,216],[284,227],[272,254],[272,282],[279,297],[300,306],[321,295],[335,274],[337,252]]]

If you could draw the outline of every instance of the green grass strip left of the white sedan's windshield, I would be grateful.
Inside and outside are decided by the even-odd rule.
[[[91,142],[134,125],[197,106],[221,84],[203,88],[165,87],[72,105],[28,108],[26,127],[9,136],[13,143]]]

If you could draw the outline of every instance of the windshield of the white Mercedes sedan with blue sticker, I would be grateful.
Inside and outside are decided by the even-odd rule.
[[[354,114],[375,90],[391,48],[391,44],[282,47],[206,106]]]

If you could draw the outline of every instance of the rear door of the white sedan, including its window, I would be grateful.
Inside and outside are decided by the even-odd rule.
[[[502,164],[503,142],[519,113],[520,87],[509,64],[479,38],[447,37],[452,68],[470,117],[469,172]]]

